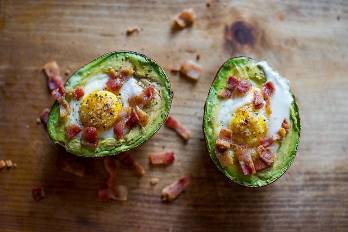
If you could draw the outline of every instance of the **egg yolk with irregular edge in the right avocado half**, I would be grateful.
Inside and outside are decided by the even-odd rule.
[[[237,144],[248,144],[251,147],[259,145],[266,135],[266,122],[252,105],[246,105],[232,114],[231,130],[233,140]]]

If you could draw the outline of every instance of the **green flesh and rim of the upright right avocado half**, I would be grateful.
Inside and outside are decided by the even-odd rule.
[[[283,175],[295,158],[301,136],[299,109],[296,99],[290,91],[293,98],[293,102],[290,106],[291,129],[281,140],[274,163],[266,169],[257,171],[254,175],[243,175],[236,158],[234,158],[234,163],[231,166],[227,168],[221,167],[220,162],[214,153],[215,141],[218,134],[217,131],[214,130],[213,124],[215,120],[217,120],[221,102],[217,97],[217,93],[225,89],[227,80],[231,75],[235,77],[243,77],[247,81],[259,86],[265,83],[266,77],[257,63],[258,61],[249,57],[236,57],[225,62],[219,69],[212,83],[205,102],[203,117],[204,137],[211,159],[219,170],[229,179],[247,187],[262,187],[274,182]]]

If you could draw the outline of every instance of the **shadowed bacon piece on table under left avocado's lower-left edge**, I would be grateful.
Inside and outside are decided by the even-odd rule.
[[[84,177],[85,162],[72,154],[61,154],[58,156],[58,167],[65,172]]]

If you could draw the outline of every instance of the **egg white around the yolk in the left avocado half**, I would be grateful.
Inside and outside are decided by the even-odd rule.
[[[90,78],[90,80],[84,86],[85,95],[79,100],[72,99],[70,101],[69,106],[71,113],[68,117],[68,122],[72,124],[82,125],[79,114],[79,109],[82,102],[90,93],[107,88],[106,82],[108,79],[109,76],[107,74],[99,74]],[[139,95],[140,93],[142,93],[142,91],[143,88],[139,85],[138,81],[134,78],[134,76],[130,76],[119,90],[119,95],[117,96],[117,99],[120,102],[121,106],[128,107],[128,99],[133,96]],[[115,134],[113,132],[113,126],[105,129],[98,129],[97,134],[99,139],[115,137]],[[81,138],[81,135],[82,132],[76,135],[76,138]]]

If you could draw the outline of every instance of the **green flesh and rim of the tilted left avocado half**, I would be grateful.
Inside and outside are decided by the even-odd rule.
[[[123,65],[131,65],[137,78],[144,78],[144,81],[150,80],[157,83],[161,99],[156,101],[156,105],[151,106],[149,124],[142,128],[137,126],[128,134],[127,139],[116,140],[108,138],[100,141],[96,148],[81,145],[78,139],[68,140],[65,135],[65,122],[59,116],[59,104],[56,101],[52,106],[48,116],[47,130],[51,140],[64,146],[68,152],[85,157],[101,157],[106,155],[115,155],[123,151],[130,150],[147,139],[152,137],[163,125],[166,120],[173,99],[173,92],[167,74],[163,68],[151,58],[140,53],[131,51],[115,51],[105,54],[74,73],[67,83],[65,89],[75,88],[78,85],[84,85],[86,82],[98,74],[107,74],[110,68],[118,70]],[[158,108],[156,108],[158,106]]]

